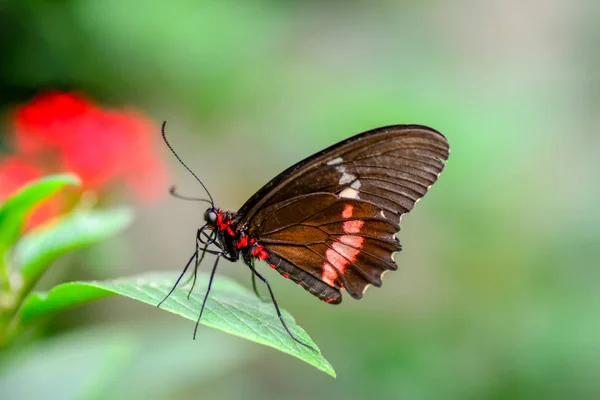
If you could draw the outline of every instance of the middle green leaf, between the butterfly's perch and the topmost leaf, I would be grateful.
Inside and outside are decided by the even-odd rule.
[[[14,250],[26,294],[61,255],[103,241],[125,229],[133,213],[127,208],[73,212],[24,236]]]

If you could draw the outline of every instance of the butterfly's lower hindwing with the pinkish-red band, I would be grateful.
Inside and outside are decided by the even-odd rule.
[[[315,193],[264,210],[250,235],[259,238],[269,263],[283,259],[361,298],[367,285],[381,286],[381,275],[397,268],[398,227],[380,211],[366,201]]]

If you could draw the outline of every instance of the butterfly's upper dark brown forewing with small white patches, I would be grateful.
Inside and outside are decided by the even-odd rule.
[[[448,154],[446,138],[431,128],[393,125],[373,129],[279,174],[240,208],[238,222],[246,225],[269,206],[303,194],[327,192],[349,197],[355,190],[360,199],[399,217],[437,180]]]

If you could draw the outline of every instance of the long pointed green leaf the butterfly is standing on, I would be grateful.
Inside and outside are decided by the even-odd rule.
[[[23,307],[22,321],[30,322],[48,313],[111,294],[156,306],[167,295],[176,278],[170,273],[153,273],[113,281],[65,283],[47,293],[33,293]],[[200,274],[196,283],[198,290],[189,300],[187,289],[178,288],[161,308],[196,321],[205,294],[202,289],[207,285],[208,275]],[[292,316],[284,310],[282,313],[292,333],[317,348]],[[277,318],[273,304],[260,301],[254,293],[229,279],[218,277],[213,282],[201,323],[288,353],[335,377],[333,367],[320,352],[307,349],[289,337]],[[202,340],[201,330],[198,336]]]

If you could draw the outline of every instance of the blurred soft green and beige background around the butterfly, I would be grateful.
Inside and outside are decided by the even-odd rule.
[[[47,90],[135,107],[156,121],[157,144],[168,120],[180,156],[231,210],[377,126],[429,125],[452,147],[403,219],[399,270],[381,289],[330,306],[262,268],[336,380],[209,328],[192,341],[193,323],[115,298],[61,315],[0,381],[14,398],[46,399],[600,397],[599,8],[0,1],[5,153],[13,110]],[[182,193],[202,195],[161,157]],[[179,271],[203,211],[166,195],[140,204],[125,235],[58,275]],[[220,273],[249,285],[242,264]]]

